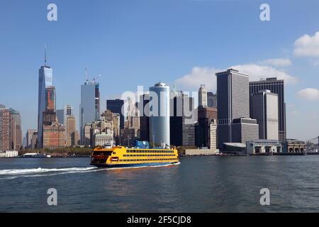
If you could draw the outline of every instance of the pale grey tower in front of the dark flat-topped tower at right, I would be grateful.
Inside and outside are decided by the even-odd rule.
[[[261,90],[250,96],[250,112],[259,125],[259,139],[278,140],[278,94]]]

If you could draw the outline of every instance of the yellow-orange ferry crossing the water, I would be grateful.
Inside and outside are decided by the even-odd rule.
[[[91,165],[96,167],[138,167],[167,165],[179,162],[176,149],[96,147],[91,153]]]

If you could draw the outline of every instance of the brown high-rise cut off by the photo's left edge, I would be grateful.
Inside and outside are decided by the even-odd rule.
[[[10,114],[6,106],[0,104],[0,151],[10,149]]]

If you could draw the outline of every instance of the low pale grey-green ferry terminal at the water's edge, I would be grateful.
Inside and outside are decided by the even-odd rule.
[[[246,153],[248,155],[281,153],[279,140],[247,140]]]

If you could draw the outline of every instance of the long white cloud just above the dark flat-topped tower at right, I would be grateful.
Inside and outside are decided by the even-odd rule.
[[[296,77],[290,74],[277,70],[274,67],[269,67],[265,65],[257,64],[247,64],[247,65],[235,65],[232,68],[239,70],[250,75],[250,81],[256,81],[267,77],[277,77],[277,79],[284,79],[286,83],[293,84],[297,81]]]

